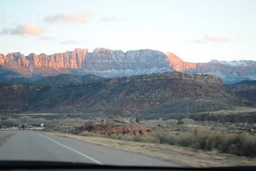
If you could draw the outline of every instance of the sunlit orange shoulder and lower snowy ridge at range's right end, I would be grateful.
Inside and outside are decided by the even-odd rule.
[[[241,82],[242,80],[256,80],[256,62],[234,61],[218,62],[212,60],[208,63],[183,62],[176,55],[167,53],[170,69],[183,71],[188,74],[210,74],[222,78],[226,84]]]

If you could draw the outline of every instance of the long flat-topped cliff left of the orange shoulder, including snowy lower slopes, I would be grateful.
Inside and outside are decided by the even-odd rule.
[[[102,77],[119,77],[136,74],[152,74],[168,71],[166,54],[157,50],[75,49],[60,54],[21,53],[0,55],[0,65],[21,73],[25,77],[58,74],[96,74]],[[120,72],[121,71],[121,72]]]

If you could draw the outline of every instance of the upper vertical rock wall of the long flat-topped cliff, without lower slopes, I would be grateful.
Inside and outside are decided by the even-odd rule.
[[[6,62],[16,62],[19,66],[53,69],[87,69],[87,70],[137,70],[151,67],[168,67],[166,55],[157,50],[107,50],[98,48],[93,53],[88,50],[75,49],[60,54],[30,54],[11,53],[0,56],[2,65]],[[154,65],[154,66],[153,66]]]

